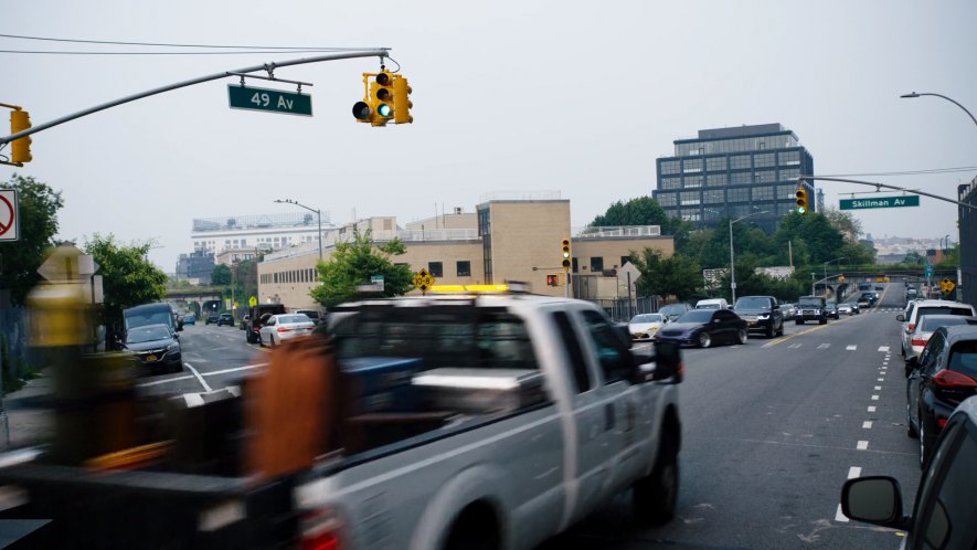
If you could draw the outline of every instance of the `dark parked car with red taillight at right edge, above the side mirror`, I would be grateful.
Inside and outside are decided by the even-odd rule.
[[[910,366],[906,434],[920,438],[920,467],[926,467],[953,410],[977,394],[977,326],[937,328]]]

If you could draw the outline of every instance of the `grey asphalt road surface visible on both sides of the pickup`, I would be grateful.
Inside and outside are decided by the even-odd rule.
[[[540,550],[898,547],[901,533],[848,521],[838,506],[848,477],[895,476],[906,506],[918,484],[895,321],[903,288],[884,286],[861,315],[686,349],[677,518],[641,528],[622,495]],[[146,379],[146,391],[216,390],[266,360],[237,327],[188,326],[181,340],[184,371]]]

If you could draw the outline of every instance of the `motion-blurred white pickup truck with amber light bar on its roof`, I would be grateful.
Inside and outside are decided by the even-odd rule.
[[[184,503],[170,514],[183,519],[169,532],[151,529],[145,532],[152,537],[116,544],[106,540],[105,525],[82,529],[60,548],[124,548],[136,540],[171,548],[177,540],[185,548],[531,549],[629,488],[638,518],[673,516],[682,364],[672,345],[658,345],[654,355],[631,350],[626,326],[609,322],[595,305],[520,294],[363,302],[330,319],[341,366],[385,358],[415,369],[363,379],[370,391],[359,406],[380,411],[372,413],[378,417],[384,408],[440,411],[443,422],[405,436],[390,435],[400,429],[374,434],[258,498],[227,476],[72,478],[75,498],[110,485],[116,504],[126,501],[118,494],[127,486],[138,486],[130,498],[169,490],[173,503],[178,496]],[[43,491],[60,483],[51,476],[72,477],[63,467],[44,468],[0,468],[0,494],[15,487],[38,500],[56,494]],[[113,476],[119,477],[106,480]],[[197,489],[188,496],[178,485]],[[188,510],[195,521],[185,520]]]

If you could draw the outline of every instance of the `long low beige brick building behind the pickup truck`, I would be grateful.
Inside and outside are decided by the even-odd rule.
[[[394,237],[406,245],[406,253],[393,262],[405,263],[414,272],[426,268],[436,284],[501,284],[520,281],[530,292],[563,296],[567,290],[562,261],[562,241],[572,241],[571,290],[586,299],[616,298],[626,294],[617,277],[633,252],[646,247],[675,252],[675,241],[657,225],[586,228],[572,231],[570,201],[549,193],[538,198],[488,199],[475,213],[455,209],[450,214],[411,222],[403,229],[393,216],[360,220],[329,230],[322,240],[323,260],[336,244],[352,239],[354,230],[371,231],[374,242]],[[258,294],[262,303],[282,303],[289,309],[315,308],[309,293],[318,284],[317,243],[304,243],[268,254],[258,264]],[[560,274],[560,286],[548,286],[546,275]],[[364,281],[364,284],[369,281]]]

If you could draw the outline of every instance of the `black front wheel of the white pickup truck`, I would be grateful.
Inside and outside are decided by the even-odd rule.
[[[678,445],[675,435],[663,432],[655,467],[648,477],[635,483],[631,505],[639,521],[663,525],[675,518],[678,500]]]

